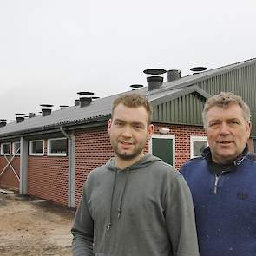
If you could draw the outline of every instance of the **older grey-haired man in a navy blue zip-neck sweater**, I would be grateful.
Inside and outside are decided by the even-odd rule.
[[[181,167],[193,195],[200,256],[256,255],[256,157],[250,109],[220,93],[203,110],[209,147]]]

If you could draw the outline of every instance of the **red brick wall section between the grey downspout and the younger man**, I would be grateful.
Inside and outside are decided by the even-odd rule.
[[[89,172],[102,166],[114,155],[107,126],[81,130],[75,134],[75,207],[78,206],[83,183]]]

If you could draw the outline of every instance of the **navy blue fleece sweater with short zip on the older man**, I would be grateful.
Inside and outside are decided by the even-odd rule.
[[[256,161],[246,154],[217,177],[207,157],[187,161],[200,256],[256,255]]]

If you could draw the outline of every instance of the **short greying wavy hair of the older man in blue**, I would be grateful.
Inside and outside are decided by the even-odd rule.
[[[248,107],[246,102],[244,102],[240,96],[234,95],[233,93],[220,92],[219,95],[213,95],[213,97],[210,97],[207,99],[204,110],[202,112],[204,127],[205,128],[207,127],[207,112],[210,110],[210,108],[213,108],[213,107],[228,108],[229,104],[239,105],[240,108],[242,109],[242,113],[245,121],[250,122],[250,119],[251,119],[250,108]]]

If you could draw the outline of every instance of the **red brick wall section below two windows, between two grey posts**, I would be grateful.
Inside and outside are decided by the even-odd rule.
[[[46,142],[44,156],[28,157],[28,194],[68,206],[69,157],[47,156]]]

